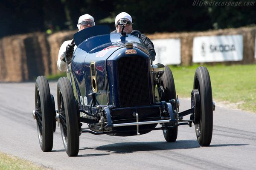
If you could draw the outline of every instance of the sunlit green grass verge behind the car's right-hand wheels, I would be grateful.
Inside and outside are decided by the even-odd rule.
[[[180,97],[190,97],[198,66],[170,66]],[[234,103],[244,111],[256,113],[256,65],[203,66],[210,74],[213,100]]]

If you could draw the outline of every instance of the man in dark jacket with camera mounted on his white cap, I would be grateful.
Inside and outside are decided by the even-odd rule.
[[[144,34],[140,33],[138,30],[133,30],[132,28],[132,19],[131,15],[127,14],[126,12],[121,12],[116,16],[115,24],[116,24],[116,30],[111,33],[121,33],[122,31],[122,24],[120,23],[120,19],[126,19],[126,24],[124,31],[127,34],[131,34],[135,37],[138,37],[140,40],[142,40],[148,47],[149,53],[151,55],[151,59],[154,61],[156,57],[156,52],[154,50],[154,44],[149,40],[148,37],[146,37]]]

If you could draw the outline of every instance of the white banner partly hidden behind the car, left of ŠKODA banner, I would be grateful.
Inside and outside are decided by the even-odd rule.
[[[176,65],[181,63],[180,39],[159,39],[152,40],[152,42],[156,51],[154,64]]]

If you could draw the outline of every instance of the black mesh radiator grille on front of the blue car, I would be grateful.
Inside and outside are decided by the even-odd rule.
[[[120,106],[150,104],[148,65],[139,56],[122,57],[118,61]]]

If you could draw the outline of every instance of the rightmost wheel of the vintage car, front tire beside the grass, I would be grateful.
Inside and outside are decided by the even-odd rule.
[[[206,67],[200,66],[195,71],[194,89],[198,89],[201,99],[201,111],[198,111],[200,120],[195,123],[195,133],[201,146],[209,146],[212,140],[213,107],[211,80]]]

